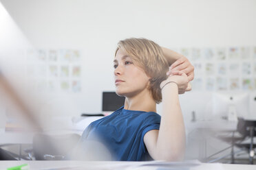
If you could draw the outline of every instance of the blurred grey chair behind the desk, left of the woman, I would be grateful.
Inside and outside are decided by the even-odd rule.
[[[80,137],[78,134],[35,134],[33,149],[27,149],[26,152],[31,160],[65,160]]]

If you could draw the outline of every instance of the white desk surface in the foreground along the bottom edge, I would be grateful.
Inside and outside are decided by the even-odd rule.
[[[30,169],[207,169],[207,170],[255,170],[256,165],[231,165],[231,164],[220,164],[220,163],[201,163],[196,166],[182,167],[180,162],[86,162],[86,161],[0,161],[0,169],[6,169],[8,167],[15,167],[23,164],[28,164]],[[155,164],[155,165],[153,165]],[[161,165],[162,164],[162,165]],[[167,166],[169,164],[169,167]],[[163,167],[163,165],[165,165]],[[63,170],[63,169],[61,169]]]

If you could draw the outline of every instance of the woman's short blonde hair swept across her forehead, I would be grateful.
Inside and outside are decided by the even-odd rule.
[[[116,53],[118,49],[126,51],[134,63],[151,77],[149,91],[156,104],[159,104],[162,101],[160,83],[167,79],[166,73],[169,71],[169,64],[164,58],[161,47],[145,38],[127,38],[118,42]]]

